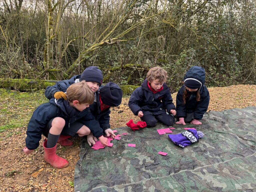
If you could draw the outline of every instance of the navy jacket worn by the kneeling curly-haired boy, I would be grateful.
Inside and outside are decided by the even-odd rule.
[[[158,115],[162,113],[170,113],[171,109],[176,110],[169,87],[163,84],[163,90],[153,93],[148,85],[147,79],[144,80],[141,87],[136,88],[130,97],[128,103],[134,115],[138,115],[139,111],[143,115]]]

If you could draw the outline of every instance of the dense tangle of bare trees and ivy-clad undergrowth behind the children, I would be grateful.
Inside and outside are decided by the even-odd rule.
[[[140,85],[151,67],[177,90],[189,67],[207,86],[255,84],[256,1],[1,0],[0,78],[63,80],[98,66]]]

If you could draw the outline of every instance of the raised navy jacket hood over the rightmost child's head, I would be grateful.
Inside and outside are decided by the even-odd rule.
[[[185,74],[183,81],[194,79],[202,83],[201,87],[205,84],[205,70],[202,67],[191,67]]]

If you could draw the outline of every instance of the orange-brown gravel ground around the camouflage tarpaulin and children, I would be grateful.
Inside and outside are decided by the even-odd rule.
[[[208,110],[222,111],[256,106],[256,85],[214,87],[208,90],[210,92]],[[172,94],[174,103],[176,103],[176,94]],[[128,100],[129,98],[123,98],[120,108],[112,110],[110,122],[112,129],[126,126],[126,122],[130,119],[134,122],[140,120],[128,108]],[[120,110],[123,112],[118,113]],[[74,144],[69,147],[57,145],[57,154],[66,158],[69,166],[64,169],[55,169],[43,160],[43,139],[37,150],[31,155],[26,155],[22,151],[25,146],[26,127],[17,128],[16,133],[8,136],[8,131],[5,131],[0,140],[0,192],[73,191],[74,167],[79,159],[80,139],[72,138]]]

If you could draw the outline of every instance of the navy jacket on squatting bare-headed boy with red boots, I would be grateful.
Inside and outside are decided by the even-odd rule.
[[[48,122],[55,117],[65,119],[65,126],[70,126],[74,121],[78,121],[86,125],[95,137],[103,135],[103,130],[94,116],[90,113],[90,109],[83,111],[71,107],[68,101],[63,98],[58,99],[57,103],[52,98],[48,103],[43,103],[34,111],[27,127],[26,147],[30,150],[36,149],[41,140],[42,130],[46,128]]]

